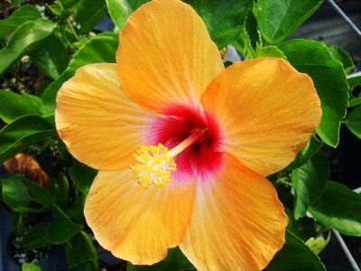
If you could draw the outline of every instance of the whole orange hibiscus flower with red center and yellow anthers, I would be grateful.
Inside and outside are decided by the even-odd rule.
[[[205,24],[178,0],[129,16],[116,63],[61,87],[56,126],[99,170],[85,216],[100,245],[136,265],[179,246],[199,270],[259,270],[287,216],[264,177],[290,164],[321,116],[312,80],[282,59],[224,68]]]

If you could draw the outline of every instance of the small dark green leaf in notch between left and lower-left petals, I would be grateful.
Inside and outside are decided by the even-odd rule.
[[[85,164],[77,164],[69,168],[69,175],[79,191],[88,194],[89,187],[97,176],[97,170]]]

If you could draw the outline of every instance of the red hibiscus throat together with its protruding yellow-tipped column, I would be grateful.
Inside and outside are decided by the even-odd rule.
[[[206,180],[221,166],[222,135],[208,113],[194,107],[171,105],[151,128],[149,147],[134,154],[134,178],[143,186],[185,182],[193,176]],[[152,148],[152,149],[151,149]]]

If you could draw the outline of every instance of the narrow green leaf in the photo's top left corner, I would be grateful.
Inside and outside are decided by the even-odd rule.
[[[0,40],[13,33],[19,25],[39,18],[42,18],[42,14],[34,5],[23,5],[15,9],[8,18],[0,20]]]

